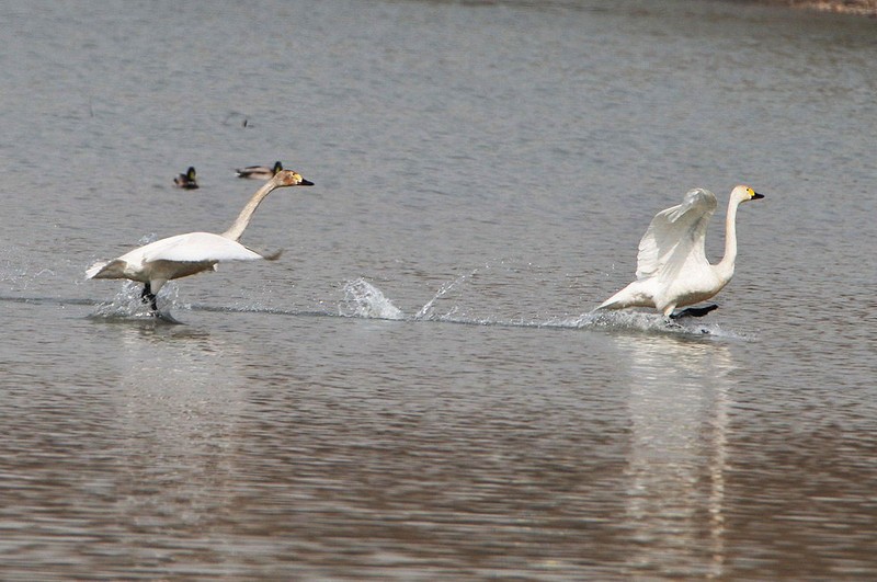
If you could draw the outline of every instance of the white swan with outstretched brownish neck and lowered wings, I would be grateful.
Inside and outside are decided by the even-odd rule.
[[[248,249],[240,240],[243,230],[250,224],[253,213],[262,201],[274,189],[285,186],[311,186],[297,172],[283,170],[253,194],[231,227],[221,235],[212,232],[189,232],[150,242],[134,249],[112,261],[94,263],[86,272],[87,278],[128,278],[144,283],[141,298],[148,303],[153,312],[158,312],[156,294],[168,281],[215,271],[221,261],[252,261],[267,259],[273,261],[280,256],[262,254]]]

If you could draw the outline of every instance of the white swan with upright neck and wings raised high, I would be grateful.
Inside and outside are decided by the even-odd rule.
[[[749,186],[737,186],[728,201],[725,219],[725,256],[711,265],[704,242],[709,218],[716,212],[716,195],[704,189],[685,194],[679,206],[658,213],[639,241],[637,279],[597,307],[654,307],[664,317],[704,316],[716,309],[710,305],[688,308],[673,315],[676,307],[709,299],[733,276],[737,259],[737,207],[742,202],[763,198]]]

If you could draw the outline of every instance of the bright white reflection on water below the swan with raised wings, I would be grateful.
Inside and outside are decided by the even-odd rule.
[[[708,341],[617,335],[629,355],[626,515],[637,569],[721,575],[730,350]]]

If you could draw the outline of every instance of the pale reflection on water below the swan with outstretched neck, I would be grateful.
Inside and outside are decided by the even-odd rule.
[[[190,573],[226,573],[212,564],[221,545],[209,526],[230,510],[236,426],[246,406],[236,346],[181,326],[121,331],[117,414],[106,433],[117,460],[113,513],[128,523],[119,529],[124,549],[109,546],[107,563],[173,573],[184,560]],[[197,532],[200,540],[186,539]]]

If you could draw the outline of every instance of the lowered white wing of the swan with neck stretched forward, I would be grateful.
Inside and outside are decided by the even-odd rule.
[[[189,232],[157,240],[140,247],[122,259],[129,263],[151,263],[156,261],[173,263],[218,263],[221,261],[253,261],[263,259],[261,254],[243,244],[210,232]]]

